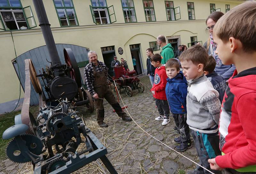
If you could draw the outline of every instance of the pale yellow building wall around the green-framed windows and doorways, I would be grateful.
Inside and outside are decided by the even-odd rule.
[[[74,44],[90,48],[98,53],[98,58],[103,61],[101,47],[115,46],[118,60],[127,60],[130,69],[133,67],[129,45],[140,44],[140,55],[143,68],[146,69],[146,49],[149,42],[156,41],[159,34],[165,36],[180,35],[181,44],[188,45],[190,36],[197,36],[203,43],[208,39],[205,32],[205,19],[210,15],[210,3],[216,9],[221,8],[225,13],[225,4],[230,4],[230,9],[243,1],[203,1],[194,0],[196,20],[188,20],[187,1],[174,0],[174,7],[180,6],[181,19],[167,21],[164,0],[154,0],[156,22],[146,22],[142,0],[134,0],[137,23],[124,23],[124,15],[120,0],[107,0],[108,6],[114,5],[117,22],[110,25],[95,25],[92,20],[89,5],[90,0],[73,0],[79,26],[60,27],[59,19],[52,0],[44,0],[44,6],[52,27],[55,43]],[[35,16],[37,27],[31,30],[12,31],[17,56],[40,46],[45,45],[44,38],[32,0],[21,0],[22,6],[30,5]],[[117,49],[124,49],[119,55]],[[20,82],[12,65],[15,52],[10,31],[0,31],[0,103],[13,101],[19,98]],[[160,50],[155,53],[160,53]],[[29,57],[28,57],[29,58]],[[21,98],[23,98],[21,91]]]

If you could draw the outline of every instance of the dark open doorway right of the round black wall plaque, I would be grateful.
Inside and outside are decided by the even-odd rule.
[[[143,65],[142,65],[142,61],[141,61],[141,56],[140,56],[140,44],[134,44],[134,45],[130,45],[130,50],[131,50],[131,59],[132,56],[136,59],[136,70],[138,72],[137,75],[140,75],[143,73]],[[133,67],[130,68],[134,69]]]

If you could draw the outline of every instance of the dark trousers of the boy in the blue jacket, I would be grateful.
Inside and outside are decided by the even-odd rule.
[[[173,114],[176,127],[180,131],[180,140],[184,144],[190,143],[189,127],[187,124],[187,114]]]

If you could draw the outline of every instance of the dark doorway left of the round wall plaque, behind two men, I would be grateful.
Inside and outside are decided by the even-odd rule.
[[[111,77],[114,75],[113,68],[111,68],[111,62],[114,60],[115,46],[102,47],[101,48],[104,64],[108,67],[108,75]],[[120,61],[120,60],[119,60]]]

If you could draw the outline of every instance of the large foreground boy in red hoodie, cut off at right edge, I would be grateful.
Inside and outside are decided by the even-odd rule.
[[[220,112],[220,150],[211,169],[226,174],[256,173],[256,2],[247,1],[224,14],[213,29],[216,54],[235,64]]]

